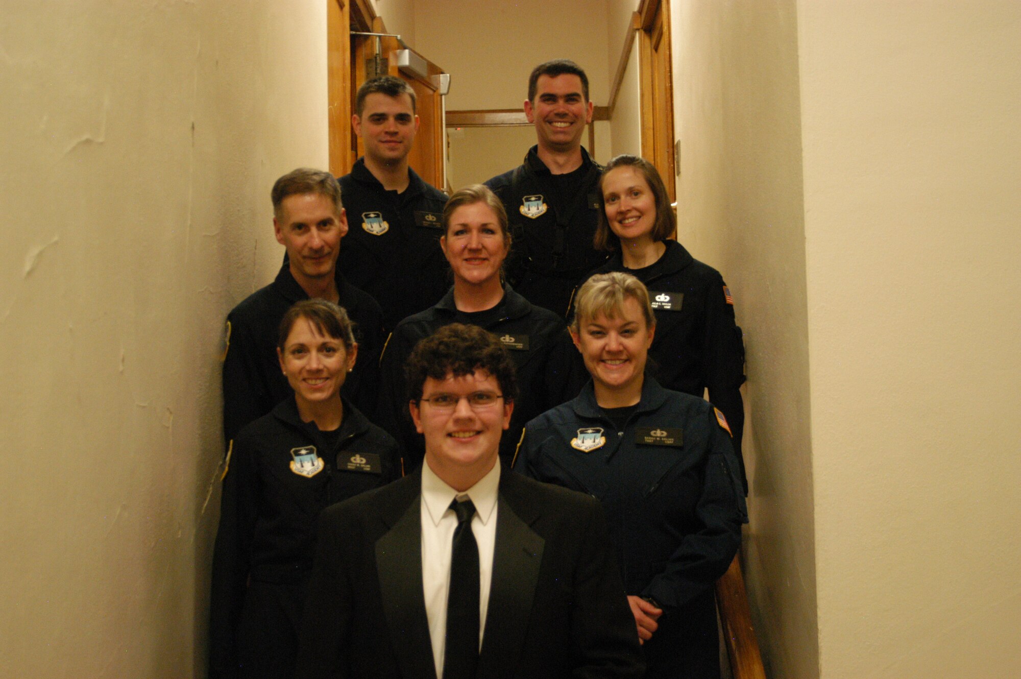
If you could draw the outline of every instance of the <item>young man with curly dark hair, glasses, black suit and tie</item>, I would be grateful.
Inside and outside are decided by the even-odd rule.
[[[500,468],[500,341],[445,326],[407,374],[425,464],[322,515],[296,676],[640,677],[598,501]]]

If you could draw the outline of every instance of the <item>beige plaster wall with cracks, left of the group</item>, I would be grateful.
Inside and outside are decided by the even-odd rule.
[[[323,3],[5,3],[0,674],[204,675],[227,310],[327,162]]]

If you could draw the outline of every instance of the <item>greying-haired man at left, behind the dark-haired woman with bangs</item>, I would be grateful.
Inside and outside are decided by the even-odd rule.
[[[337,268],[340,239],[348,230],[337,180],[330,173],[299,167],[277,180],[271,198],[274,234],[287,249],[287,259],[273,283],[227,317],[223,384],[228,443],[293,393],[280,371],[277,339],[284,313],[302,299],[320,297],[347,310],[354,322],[358,360],[341,393],[364,414],[376,407],[383,311]]]

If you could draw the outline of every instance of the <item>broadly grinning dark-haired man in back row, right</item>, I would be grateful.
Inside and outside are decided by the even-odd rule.
[[[510,222],[507,281],[533,304],[564,318],[575,286],[606,259],[592,245],[602,168],[581,145],[592,110],[588,77],[578,64],[540,63],[529,76],[525,101],[538,143],[520,167],[486,182]]]

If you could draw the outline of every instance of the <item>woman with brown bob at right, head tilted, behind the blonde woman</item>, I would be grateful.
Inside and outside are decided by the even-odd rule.
[[[599,179],[596,249],[613,252],[594,273],[631,274],[648,289],[655,312],[649,356],[663,386],[709,399],[734,433],[734,452],[747,494],[741,432],[744,341],[734,319],[734,298],[720,272],[670,240],[677,217],[655,167],[633,155],[611,160]]]

